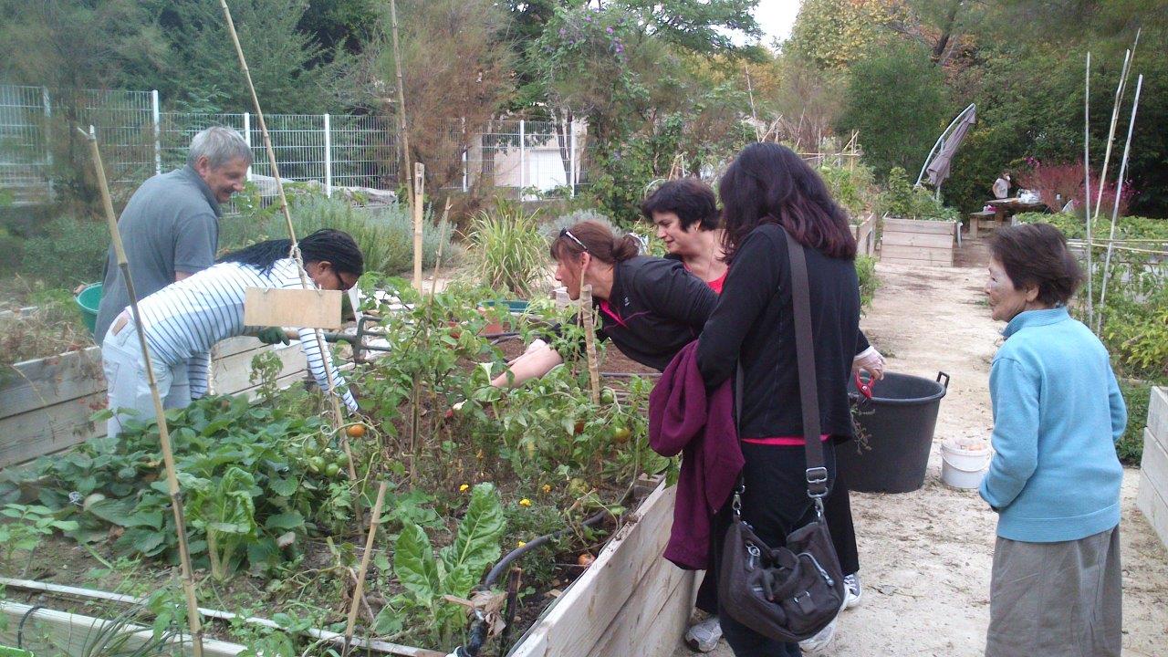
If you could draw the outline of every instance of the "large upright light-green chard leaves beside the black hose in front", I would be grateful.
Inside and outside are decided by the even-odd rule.
[[[493,484],[474,486],[454,542],[434,555],[425,531],[406,523],[394,545],[394,574],[409,606],[431,615],[437,638],[449,641],[465,625],[465,610],[444,596],[465,599],[501,554],[506,523]]]

